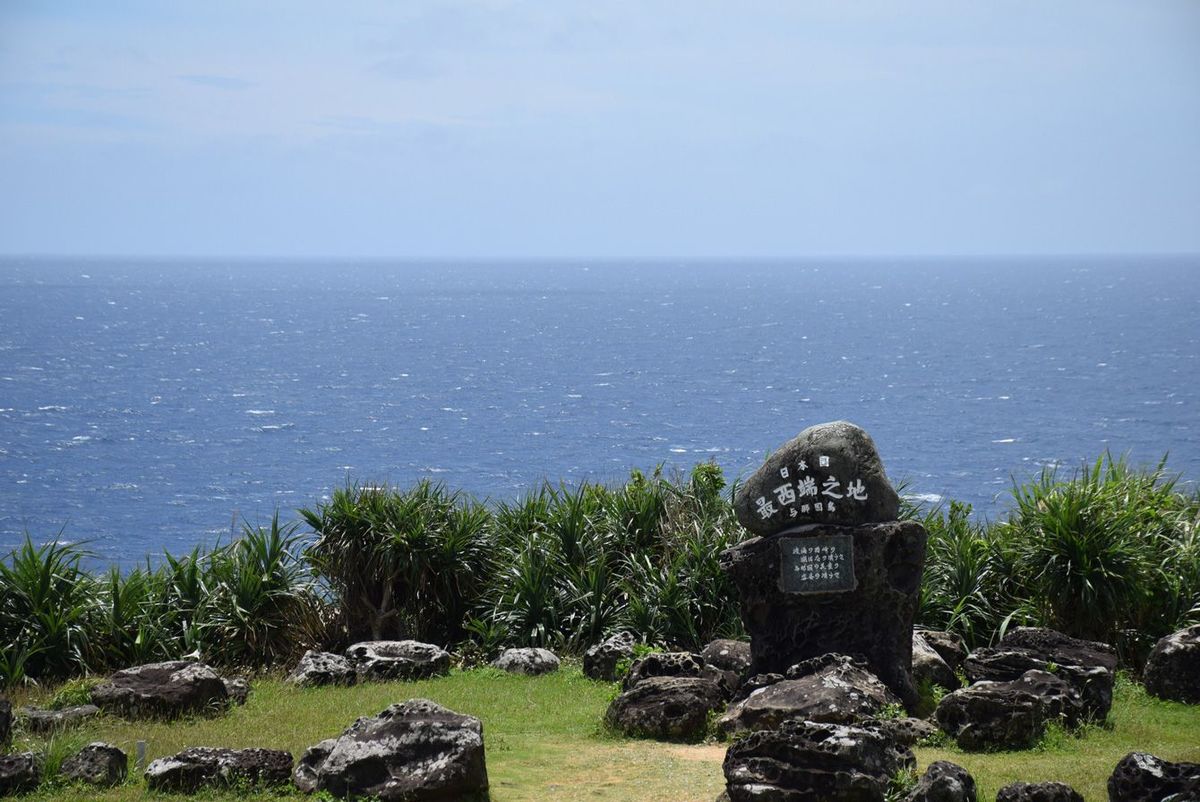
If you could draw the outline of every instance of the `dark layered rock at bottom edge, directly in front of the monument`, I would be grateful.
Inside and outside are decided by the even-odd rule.
[[[913,765],[878,730],[790,720],[734,741],[724,770],[731,802],[882,802]]]

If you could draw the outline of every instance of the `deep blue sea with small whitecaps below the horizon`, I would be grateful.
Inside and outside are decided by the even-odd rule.
[[[227,538],[348,481],[509,498],[847,419],[1007,508],[1105,449],[1200,478],[1200,258],[0,261],[0,553]]]

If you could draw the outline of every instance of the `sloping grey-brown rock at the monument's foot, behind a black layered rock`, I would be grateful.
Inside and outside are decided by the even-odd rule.
[[[769,730],[788,719],[854,724],[900,704],[878,677],[845,654],[804,660],[786,676],[731,705],[718,728],[726,734]]]

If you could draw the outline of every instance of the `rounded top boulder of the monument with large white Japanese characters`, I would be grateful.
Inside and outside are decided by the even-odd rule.
[[[894,521],[900,497],[871,436],[835,420],[805,429],[772,453],[738,489],[733,511],[742,526],[766,537],[808,523]]]

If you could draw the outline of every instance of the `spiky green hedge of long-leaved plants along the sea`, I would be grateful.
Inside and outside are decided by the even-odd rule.
[[[1165,462],[1165,461],[1164,461]],[[1139,668],[1200,622],[1200,493],[1105,455],[1012,489],[995,522],[906,504],[929,531],[919,623],[971,646],[1016,624],[1116,644]],[[618,629],[695,650],[742,635],[718,555],[744,537],[713,463],[620,486],[541,487],[485,504],[442,485],[352,485],[299,525],[96,574],[83,546],[25,543],[0,562],[0,686],[197,656],[284,668],[306,648],[416,638],[484,659],[578,653]]]

